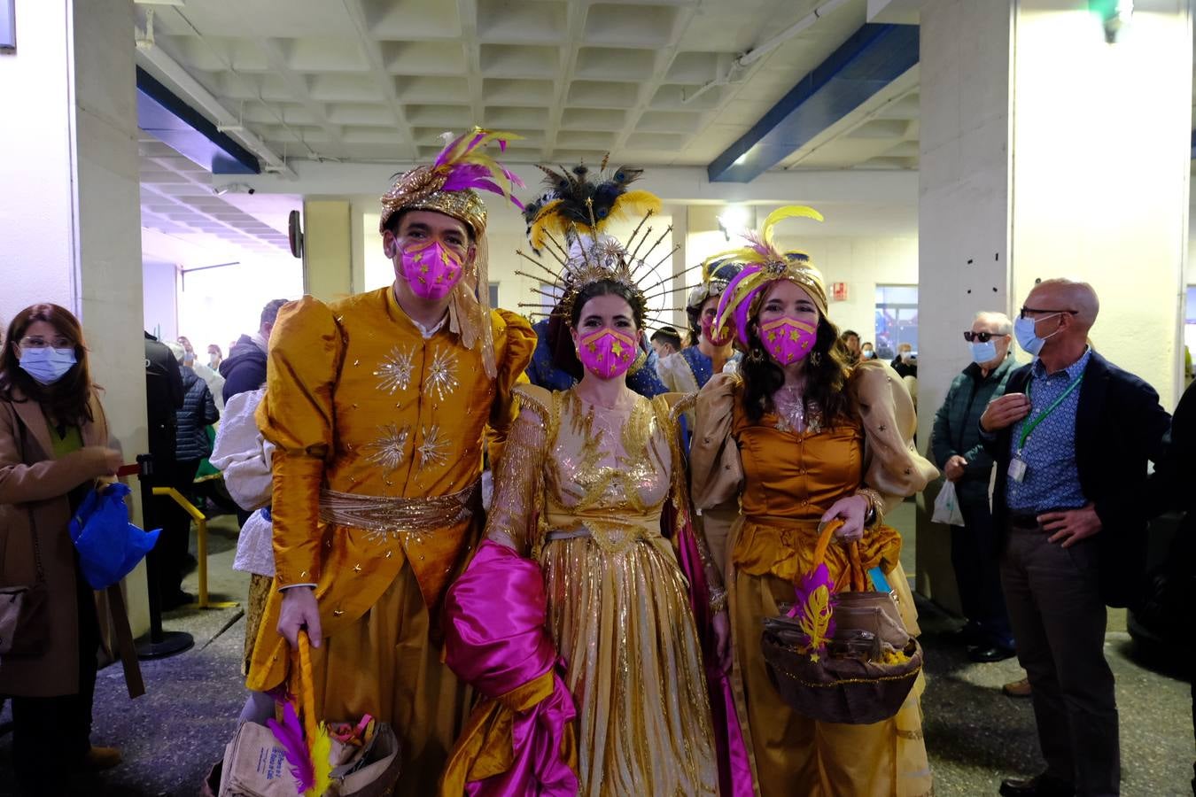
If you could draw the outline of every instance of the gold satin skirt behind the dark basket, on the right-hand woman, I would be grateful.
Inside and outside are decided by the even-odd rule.
[[[905,583],[901,565],[889,581]],[[793,601],[793,584],[768,574],[736,572],[727,591],[736,660],[732,683],[739,721],[750,731],[745,736],[757,793],[929,797],[933,779],[919,703],[922,675],[891,719],[846,725],[804,717],[781,700],[759,646],[763,618],[779,614],[779,603]]]

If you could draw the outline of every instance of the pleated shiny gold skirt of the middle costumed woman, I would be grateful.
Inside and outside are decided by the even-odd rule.
[[[561,539],[541,559],[578,706],[580,793],[718,795],[701,648],[669,541],[606,552],[590,537]]]

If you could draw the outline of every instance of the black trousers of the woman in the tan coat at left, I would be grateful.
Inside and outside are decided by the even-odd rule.
[[[67,793],[71,766],[91,749],[99,619],[96,594],[75,565],[79,606],[79,691],[53,698],[12,699],[12,758],[17,785],[38,797]]]

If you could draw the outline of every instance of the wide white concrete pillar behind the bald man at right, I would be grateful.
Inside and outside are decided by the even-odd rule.
[[[1096,347],[1149,381],[1167,406],[1178,398],[1190,2],[1135,6],[1116,43],[1086,0],[922,7],[923,450],[934,411],[969,360],[960,332],[981,309],[1013,317],[1036,280],[1091,282],[1102,299]],[[956,608],[948,551],[946,529],[932,526],[923,507],[917,587]]]

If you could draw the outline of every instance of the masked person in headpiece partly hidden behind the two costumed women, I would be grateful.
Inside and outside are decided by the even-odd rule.
[[[739,269],[739,264],[730,259],[702,264],[702,283],[690,292],[685,302],[689,347],[663,357],[657,366],[660,381],[670,391],[694,393],[704,387],[712,375],[721,374],[728,362],[739,361],[739,354],[731,348],[734,335],[728,332],[718,338],[713,333],[719,298]]]

